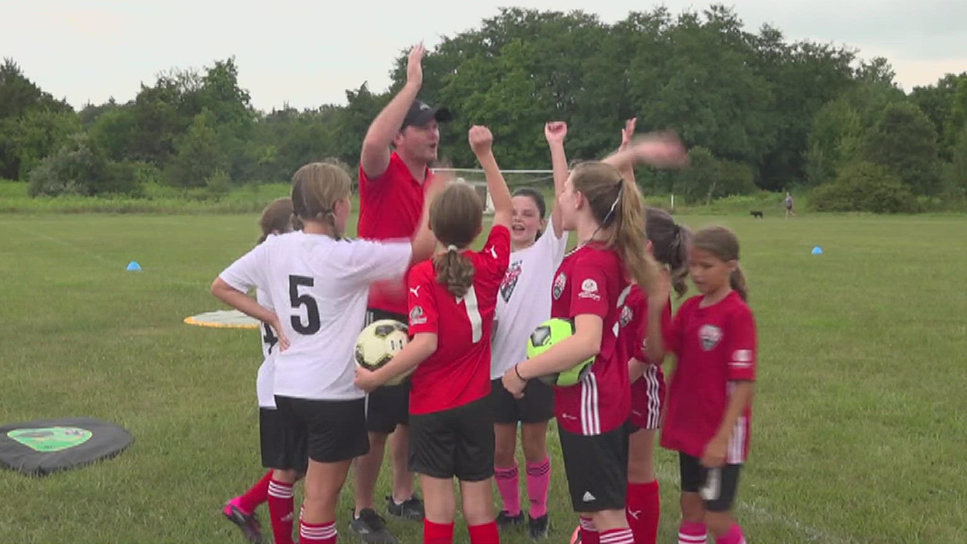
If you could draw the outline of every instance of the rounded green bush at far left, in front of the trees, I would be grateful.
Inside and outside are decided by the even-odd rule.
[[[134,167],[111,163],[89,136],[70,136],[57,153],[41,161],[30,173],[30,196],[96,196],[125,194],[139,196],[141,184],[134,179]]]

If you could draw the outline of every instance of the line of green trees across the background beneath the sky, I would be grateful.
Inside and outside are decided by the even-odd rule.
[[[15,63],[0,66],[0,177],[32,195],[136,195],[144,183],[220,190],[281,181],[311,161],[353,168],[366,128],[405,81],[346,91],[344,106],[260,111],[233,58],[170,70],[134,99],[79,111]],[[549,167],[541,127],[563,120],[569,155],[612,151],[625,119],[674,130],[680,173],[639,173],[646,191],[689,201],[812,189],[822,209],[913,211],[917,196],[967,191],[967,72],[904,93],[886,59],[847,46],[750,31],[731,9],[633,12],[613,24],[584,12],[502,9],[445,37],[424,60],[421,98],[455,114],[442,156],[473,166],[471,124],[494,132],[507,168]],[[824,203],[825,202],[825,203]]]

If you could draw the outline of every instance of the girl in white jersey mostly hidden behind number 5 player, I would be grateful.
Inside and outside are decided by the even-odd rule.
[[[292,230],[292,198],[277,198],[262,211],[259,219],[262,236],[258,244],[269,237]],[[268,293],[255,289],[255,301],[270,311],[274,310]],[[269,517],[276,544],[292,544],[293,484],[306,472],[307,459],[294,458],[290,437],[285,426],[278,420],[273,382],[276,375],[278,339],[272,328],[263,323],[259,329],[262,344],[262,366],[258,368],[255,393],[258,398],[258,427],[261,442],[262,467],[269,468],[258,482],[245,494],[231,499],[222,513],[229,521],[242,529],[249,542],[261,542],[262,533],[255,508],[269,503]]]

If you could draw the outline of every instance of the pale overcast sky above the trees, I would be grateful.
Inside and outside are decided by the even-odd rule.
[[[131,100],[161,70],[203,68],[234,55],[253,106],[343,104],[368,81],[384,90],[398,51],[429,47],[479,25],[500,6],[584,9],[605,22],[659,3],[632,0],[0,0],[0,56],[74,107]],[[673,14],[708,4],[669,0]],[[904,89],[967,71],[963,0],[734,0],[756,30],[768,22],[787,40],[850,45],[885,56]],[[392,6],[384,9],[383,6]]]

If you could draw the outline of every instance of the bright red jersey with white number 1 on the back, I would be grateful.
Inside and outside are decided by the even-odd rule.
[[[461,407],[490,394],[490,331],[511,258],[511,231],[493,227],[484,249],[464,252],[474,284],[463,298],[436,281],[433,261],[410,271],[410,335],[436,333],[436,351],[410,378],[410,413]]]

